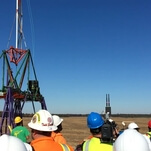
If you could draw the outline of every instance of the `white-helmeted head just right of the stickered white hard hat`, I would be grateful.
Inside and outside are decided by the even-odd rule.
[[[62,131],[62,122],[63,122],[63,119],[60,118],[58,115],[53,115],[53,120],[54,120],[54,125],[58,127],[58,129],[56,130],[56,132],[60,132]]]

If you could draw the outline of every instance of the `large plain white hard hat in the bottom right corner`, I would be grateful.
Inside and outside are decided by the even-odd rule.
[[[134,129],[126,129],[113,145],[113,151],[150,151],[144,136]]]

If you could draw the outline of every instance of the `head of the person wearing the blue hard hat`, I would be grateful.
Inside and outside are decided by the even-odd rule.
[[[101,133],[101,127],[104,124],[104,120],[99,113],[91,112],[87,117],[87,126],[90,129],[92,135]]]

